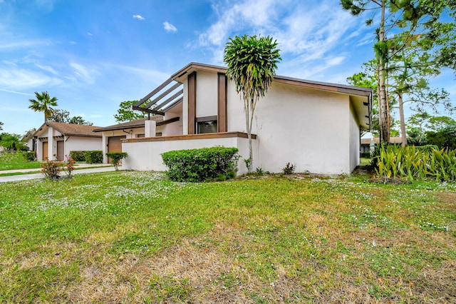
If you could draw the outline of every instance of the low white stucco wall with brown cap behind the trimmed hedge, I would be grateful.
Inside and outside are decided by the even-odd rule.
[[[254,140],[253,143],[254,148],[257,148],[257,141]],[[239,149],[239,155],[247,158],[249,156],[249,141],[247,138],[240,137],[123,142],[122,150],[128,153],[128,157],[123,160],[122,168],[125,170],[165,171],[167,168],[163,164],[162,153],[214,146],[236,147]],[[237,174],[247,173],[247,168],[242,160],[239,161],[238,168]]]

